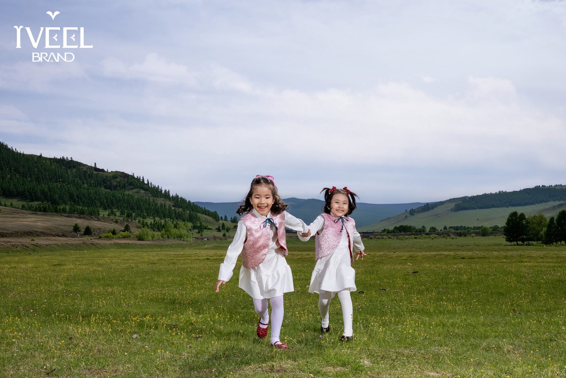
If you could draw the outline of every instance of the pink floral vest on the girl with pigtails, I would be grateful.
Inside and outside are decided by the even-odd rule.
[[[322,231],[316,233],[316,260],[320,257],[328,256],[336,250],[338,244],[340,244],[340,239],[342,238],[342,233],[340,229],[342,228],[342,221],[334,222],[337,218],[332,214],[320,214],[324,218],[324,226]],[[342,232],[348,233],[348,247],[350,249],[350,258],[354,256],[352,253],[354,247],[354,231],[355,231],[355,221],[353,218],[345,217],[348,221],[344,220],[344,230]]]

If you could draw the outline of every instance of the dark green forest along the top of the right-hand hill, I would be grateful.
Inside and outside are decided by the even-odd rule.
[[[566,201],[565,186],[539,185],[513,192],[499,191],[471,196],[455,204],[452,211],[528,206],[552,201]]]

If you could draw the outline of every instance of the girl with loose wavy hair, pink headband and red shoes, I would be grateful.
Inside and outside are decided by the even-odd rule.
[[[307,225],[285,211],[287,205],[277,193],[272,176],[256,176],[250,191],[237,213],[245,214],[238,221],[234,240],[228,247],[224,263],[216,282],[216,293],[220,285],[226,284],[233,274],[236,260],[242,254],[242,268],[238,287],[254,300],[255,312],[259,315],[256,334],[267,336],[271,303],[271,345],[278,349],[289,349],[280,340],[283,323],[283,293],[294,291],[293,274],[285,260],[287,244],[285,227],[310,235]]]

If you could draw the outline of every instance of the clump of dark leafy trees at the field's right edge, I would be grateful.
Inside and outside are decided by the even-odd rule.
[[[541,213],[525,216],[525,213],[513,211],[507,217],[503,233],[507,242],[517,245],[519,242],[566,243],[566,210],[548,220]]]

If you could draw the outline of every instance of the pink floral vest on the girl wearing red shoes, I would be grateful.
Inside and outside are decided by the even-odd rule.
[[[272,215],[273,222],[277,225],[277,241],[279,242],[279,252],[287,255],[287,243],[285,240],[285,212]],[[242,263],[246,268],[254,268],[263,263],[269,250],[269,225],[261,228],[264,220],[255,216],[254,212],[249,212],[242,217],[246,225],[246,240],[242,250]]]

